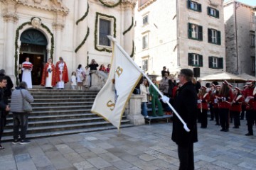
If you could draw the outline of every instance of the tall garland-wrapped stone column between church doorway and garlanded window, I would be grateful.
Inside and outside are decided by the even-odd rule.
[[[86,11],[87,11],[87,1],[78,0],[78,18],[77,18],[76,21],[78,21],[80,18],[82,18],[82,16],[85,15]],[[77,48],[82,43],[82,40],[84,40],[85,35],[87,33],[87,26],[88,26],[87,17],[85,17],[82,21],[80,21],[76,25],[77,33],[76,33],[75,48]],[[92,30],[90,30],[90,34],[93,34]],[[87,64],[87,45],[86,45],[86,42],[85,42],[85,44],[83,44],[80,47],[78,52],[76,52],[75,66],[77,67],[78,64],[82,64],[82,67],[85,67],[86,64]]]

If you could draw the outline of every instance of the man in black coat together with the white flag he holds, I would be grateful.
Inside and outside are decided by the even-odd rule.
[[[119,129],[126,103],[143,74],[159,93],[162,101],[167,103],[174,111],[175,126],[172,139],[178,144],[178,156],[181,161],[180,169],[194,169],[193,142],[197,141],[197,95],[196,89],[191,82],[193,72],[190,69],[181,69],[179,78],[183,86],[178,91],[176,108],[181,111],[182,115],[178,115],[174,107],[169,103],[169,98],[161,94],[161,91],[156,88],[149,77],[134,63],[114,38],[107,37],[114,42],[111,69],[105,86],[95,98],[92,113],[101,115]],[[189,128],[183,119],[188,121]]]

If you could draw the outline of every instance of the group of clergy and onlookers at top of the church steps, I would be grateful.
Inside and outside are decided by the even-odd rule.
[[[31,71],[33,69],[33,64],[29,62],[29,57],[26,57],[26,61],[21,64],[22,73],[22,81],[25,81],[28,89],[32,89],[32,79],[31,79]],[[88,88],[91,86],[91,77],[90,71],[97,70],[99,64],[95,60],[92,60],[89,65],[82,68],[82,64],[78,65],[78,68],[75,72],[71,74],[71,88],[82,90],[82,87]],[[56,89],[65,89],[64,84],[66,84],[68,79],[68,67],[64,62],[63,57],[59,57],[59,61],[54,65],[53,60],[51,58],[48,59],[45,66],[43,67],[43,71],[41,73],[39,69],[38,75],[42,74],[41,85],[45,86],[46,89],[53,89],[55,86]],[[109,73],[110,72],[110,64],[105,68],[104,64],[100,65],[99,71]]]

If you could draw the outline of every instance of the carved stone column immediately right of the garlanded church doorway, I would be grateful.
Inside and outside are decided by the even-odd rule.
[[[62,52],[62,30],[64,28],[64,25],[62,22],[55,22],[53,23],[53,30],[55,32],[55,53],[53,55],[53,63],[58,61],[58,57],[61,56],[61,52]]]

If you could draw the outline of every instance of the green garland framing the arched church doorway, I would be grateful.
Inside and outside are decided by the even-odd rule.
[[[33,17],[35,18],[35,17]],[[31,21],[33,20],[33,18],[31,18]],[[39,18],[40,21],[41,21],[41,18]],[[15,58],[15,63],[16,63],[16,67],[14,67],[14,74],[15,74],[15,77],[16,77],[16,85],[18,86],[18,37],[19,37],[19,31],[26,25],[30,25],[31,26],[31,22],[26,22],[26,23],[23,23],[21,24],[21,26],[19,26],[17,29],[16,29],[16,36],[15,36],[15,54],[14,54],[14,58]],[[53,33],[50,32],[50,29],[45,26],[43,23],[41,24],[41,26],[43,28],[45,28],[47,30],[48,33],[50,33],[51,35],[51,49],[50,49],[50,57],[53,58],[53,50],[54,50],[54,38],[53,38]]]

